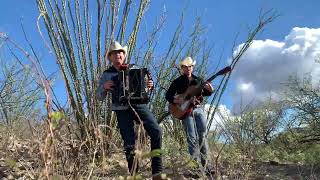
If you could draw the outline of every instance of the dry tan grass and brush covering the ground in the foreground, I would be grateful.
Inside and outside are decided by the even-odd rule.
[[[49,163],[54,168],[51,174],[45,166],[43,149],[46,149],[46,134],[43,124],[33,125],[38,132],[30,129],[28,123],[19,122],[17,128],[8,129],[0,125],[0,176],[7,179],[119,179],[129,175],[122,148],[118,144],[109,146],[109,151],[102,154],[93,142],[80,142],[67,138],[68,134],[63,128],[59,130],[54,146],[56,151],[52,154]],[[23,124],[23,125],[22,125]],[[13,126],[15,127],[15,126]],[[23,128],[22,128],[23,127]],[[40,131],[40,130],[43,131]],[[164,137],[165,173],[171,179],[183,179],[186,172],[194,169],[194,164],[188,161],[188,154],[184,147],[179,147],[170,137]],[[106,139],[104,139],[107,141]],[[173,143],[169,143],[169,142]],[[216,154],[212,154],[214,157]],[[235,158],[238,158],[236,160]],[[297,164],[257,163],[244,156],[233,160],[219,162],[217,179],[318,179],[319,167]],[[140,171],[136,177],[150,178],[150,162],[141,159]],[[184,175],[184,176],[183,176]],[[189,178],[191,178],[189,176]],[[199,179],[203,179],[200,177]]]

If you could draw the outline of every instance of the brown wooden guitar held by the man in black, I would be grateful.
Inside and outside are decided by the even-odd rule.
[[[215,73],[206,81],[193,86],[189,86],[183,94],[178,94],[175,96],[175,98],[181,97],[183,99],[183,103],[180,105],[170,103],[169,112],[172,114],[173,117],[177,119],[183,120],[184,118],[186,118],[188,115],[192,113],[193,107],[199,103],[199,99],[197,99],[197,97],[201,96],[202,89],[204,88],[205,84],[211,82],[217,76],[224,75],[230,71],[231,67],[227,66]]]

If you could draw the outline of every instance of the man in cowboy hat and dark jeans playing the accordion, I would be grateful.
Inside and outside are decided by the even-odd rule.
[[[132,104],[120,102],[117,96],[114,96],[119,89],[115,79],[119,79],[117,76],[119,72],[123,70],[124,60],[127,55],[127,46],[122,47],[119,42],[114,41],[111,43],[109,51],[106,53],[105,58],[108,58],[112,64],[110,68],[103,72],[99,80],[99,86],[96,92],[97,98],[99,100],[104,100],[106,98],[107,92],[113,93],[112,98],[112,110],[116,113],[118,128],[120,129],[120,134],[124,142],[124,151],[126,159],[128,162],[128,169],[131,174],[135,174],[137,168],[134,168],[134,147],[135,147],[135,132],[134,132],[134,119],[141,119],[143,126],[150,136],[151,140],[151,150],[161,149],[162,143],[162,132],[157,123],[157,120],[144,104]],[[148,76],[146,86],[148,89],[153,88],[153,81],[150,76]],[[130,97],[129,97],[130,98]],[[131,105],[131,104],[130,104]],[[133,109],[137,112],[139,117],[136,117]],[[162,158],[161,156],[155,156],[151,158],[151,168],[153,179],[161,179],[162,172]]]

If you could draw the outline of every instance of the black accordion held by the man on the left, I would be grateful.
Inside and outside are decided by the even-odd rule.
[[[149,89],[147,82],[150,73],[147,68],[130,68],[124,66],[118,76],[113,77],[115,83],[112,99],[127,104],[146,104],[149,102]]]

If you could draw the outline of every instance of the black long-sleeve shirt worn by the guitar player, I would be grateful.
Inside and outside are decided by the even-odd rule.
[[[174,100],[174,96],[176,94],[182,94],[184,93],[189,86],[193,86],[193,85],[197,85],[200,80],[200,78],[198,78],[197,76],[192,74],[192,79],[191,81],[189,81],[188,77],[186,75],[181,75],[180,77],[178,77],[177,79],[175,79],[168,91],[166,92],[166,99],[167,101],[169,101],[170,103],[173,103]],[[202,90],[202,96],[210,96],[213,92],[203,88]]]

